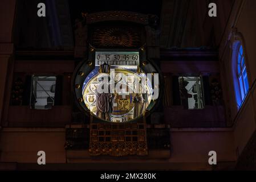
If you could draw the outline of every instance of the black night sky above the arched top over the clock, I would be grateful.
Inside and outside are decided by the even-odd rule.
[[[81,17],[81,13],[123,10],[143,14],[161,15],[161,0],[69,0],[72,22]]]

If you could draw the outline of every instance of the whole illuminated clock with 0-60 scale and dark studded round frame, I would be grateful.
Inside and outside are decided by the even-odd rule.
[[[77,69],[74,92],[97,121],[129,122],[152,110],[159,96],[157,69],[140,51],[95,51]],[[157,78],[157,79],[155,79]]]

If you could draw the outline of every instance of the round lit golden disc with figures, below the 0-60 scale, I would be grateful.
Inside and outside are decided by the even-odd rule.
[[[101,78],[107,80],[109,92],[99,94],[97,88],[103,85]],[[96,67],[84,81],[82,90],[84,104],[91,113],[111,122],[127,122],[139,117],[151,103],[153,93],[147,75],[129,67],[111,69],[109,74],[99,73]]]

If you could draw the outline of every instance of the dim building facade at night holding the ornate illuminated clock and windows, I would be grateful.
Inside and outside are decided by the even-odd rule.
[[[0,168],[255,169],[256,2],[214,2],[217,17],[202,0],[136,13],[46,0],[38,17],[39,1],[3,1]],[[146,84],[143,106],[117,94],[110,114],[97,113],[93,78],[110,68],[159,85]]]

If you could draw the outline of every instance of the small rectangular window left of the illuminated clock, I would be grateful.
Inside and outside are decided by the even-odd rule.
[[[51,109],[54,105],[56,76],[32,76],[31,109]]]

